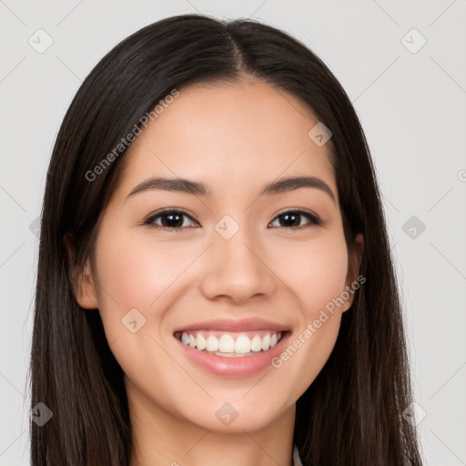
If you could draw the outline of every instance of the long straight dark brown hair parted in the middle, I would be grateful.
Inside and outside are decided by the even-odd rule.
[[[178,15],[113,48],[79,88],[56,137],[46,178],[31,351],[35,466],[127,466],[132,444],[123,374],[98,312],[79,307],[74,263],[91,254],[98,219],[125,149],[89,180],[141,117],[174,88],[253,76],[297,96],[332,132],[332,163],[348,245],[364,237],[366,283],[342,317],[329,360],[297,402],[294,441],[305,466],[420,465],[399,291],[374,167],[360,121],[329,68],[290,35],[252,20]],[[86,177],[87,174],[87,177]]]

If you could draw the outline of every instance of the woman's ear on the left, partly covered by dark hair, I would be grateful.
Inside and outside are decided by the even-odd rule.
[[[97,309],[98,299],[96,292],[95,280],[92,276],[89,259],[86,259],[84,268],[76,264],[76,248],[73,236],[68,232],[63,238],[66,253],[69,258],[69,279],[73,292],[75,293],[76,301],[85,309]]]

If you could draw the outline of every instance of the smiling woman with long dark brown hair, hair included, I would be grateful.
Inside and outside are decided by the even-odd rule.
[[[420,465],[370,150],[307,47],[179,15],[86,77],[47,174],[31,380],[35,465]]]

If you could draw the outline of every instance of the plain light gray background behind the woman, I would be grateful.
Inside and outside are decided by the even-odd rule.
[[[0,465],[29,464],[34,221],[66,108],[121,39],[196,11],[286,30],[347,90],[385,199],[426,465],[466,465],[465,0],[0,0]],[[45,44],[39,28],[54,41],[43,54],[28,44],[31,36]],[[412,28],[427,40],[416,53],[407,48],[421,44]],[[414,224],[416,231],[410,224],[403,230],[411,216],[424,231]]]

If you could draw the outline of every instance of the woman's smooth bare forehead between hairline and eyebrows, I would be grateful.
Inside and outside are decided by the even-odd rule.
[[[121,185],[129,192],[147,177],[189,177],[220,195],[308,175],[336,192],[329,144],[308,136],[318,122],[297,97],[262,81],[187,86],[128,148]]]

